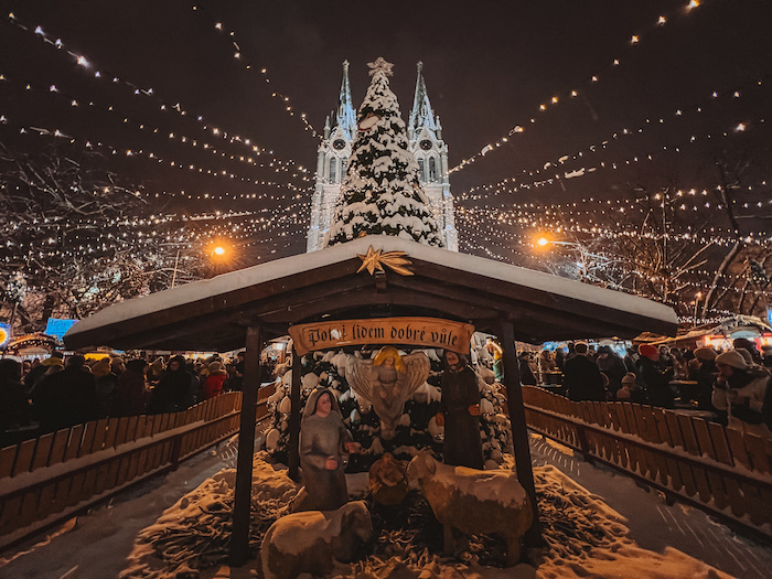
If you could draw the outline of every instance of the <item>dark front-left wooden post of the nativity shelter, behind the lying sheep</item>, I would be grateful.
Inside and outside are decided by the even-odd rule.
[[[259,325],[247,328],[247,352],[244,360],[242,388],[242,422],[238,430],[236,492],[233,505],[233,537],[230,564],[244,565],[249,557],[249,522],[251,519],[251,469],[255,454],[255,422],[257,390],[260,387],[260,351],[262,335]]]

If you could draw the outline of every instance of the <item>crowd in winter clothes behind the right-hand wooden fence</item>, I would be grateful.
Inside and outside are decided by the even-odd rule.
[[[568,352],[521,354],[521,380],[561,375],[561,390],[576,401],[633,401],[715,414],[732,428],[772,438],[772,347],[760,352],[747,339],[717,352],[641,344],[621,357],[612,347],[569,343]],[[543,383],[547,382],[543,379]]]

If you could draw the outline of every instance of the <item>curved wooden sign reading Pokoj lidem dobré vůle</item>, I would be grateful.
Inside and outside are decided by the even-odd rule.
[[[299,355],[365,344],[410,344],[469,354],[474,326],[436,318],[374,318],[298,324],[289,332]]]

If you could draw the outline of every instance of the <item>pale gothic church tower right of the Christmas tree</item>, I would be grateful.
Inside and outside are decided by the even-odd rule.
[[[407,124],[408,148],[418,161],[418,173],[426,193],[429,207],[440,226],[446,247],[451,251],[459,250],[459,234],[453,217],[453,196],[450,194],[448,178],[448,146],[442,140],[440,118],[435,115],[426,92],[421,69],[423,63],[418,63],[416,95],[412,99],[412,110]]]

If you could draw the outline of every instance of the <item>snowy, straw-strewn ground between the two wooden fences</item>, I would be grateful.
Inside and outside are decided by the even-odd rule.
[[[0,576],[14,578],[257,576],[257,561],[225,566],[227,507],[235,480],[233,447],[204,453],[176,472],[138,486],[0,559]],[[473,537],[459,558],[441,555],[442,533],[426,501],[411,491],[404,505],[373,506],[377,536],[354,564],[337,565],[335,577],[357,579],[534,579],[646,577],[714,579],[766,577],[772,549],[735,535],[700,511],[667,506],[654,491],[597,469],[557,443],[532,437],[534,472],[547,548],[530,549],[538,569],[501,568],[503,542]],[[297,486],[279,465],[256,455],[251,550],[261,533],[286,512]],[[223,469],[224,468],[224,469]],[[278,470],[275,470],[278,469]],[[367,475],[349,475],[350,494],[361,497]],[[169,505],[172,505],[171,507]],[[407,522],[407,523],[406,523]],[[225,528],[224,528],[225,527]],[[210,565],[200,575],[191,568]],[[187,571],[191,569],[190,573]],[[720,569],[720,570],[719,570]],[[728,573],[728,575],[725,575]],[[310,579],[310,578],[309,578]]]

